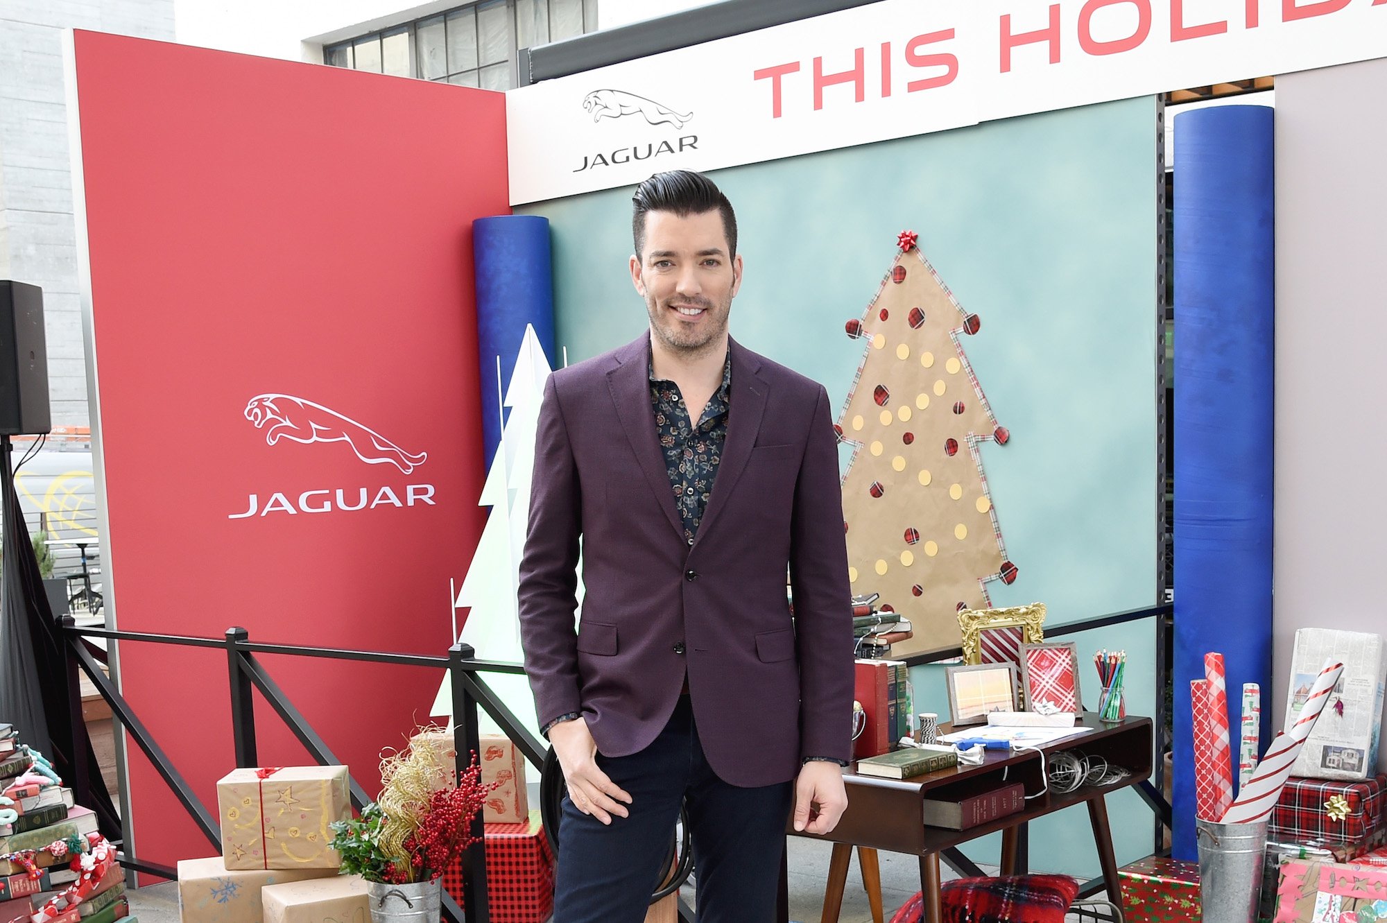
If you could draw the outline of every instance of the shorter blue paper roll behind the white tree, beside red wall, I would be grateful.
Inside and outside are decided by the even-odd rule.
[[[490,466],[501,442],[498,413],[510,384],[526,324],[553,355],[553,272],[549,263],[549,219],[538,215],[497,215],[472,222],[477,272],[477,352],[481,359],[481,434]],[[501,384],[497,384],[497,358]],[[509,410],[505,412],[509,416]]]

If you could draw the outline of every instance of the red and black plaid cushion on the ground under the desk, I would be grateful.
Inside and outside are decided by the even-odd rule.
[[[1064,923],[1079,895],[1067,874],[1015,874],[958,879],[939,890],[945,923]],[[924,898],[915,893],[890,923],[921,923]]]

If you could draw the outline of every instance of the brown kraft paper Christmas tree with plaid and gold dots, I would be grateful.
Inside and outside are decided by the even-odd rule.
[[[836,430],[853,445],[843,518],[853,593],[908,618],[914,638],[892,656],[960,642],[958,611],[988,608],[988,583],[1017,578],[982,470],[982,449],[1006,445],[963,340],[965,312],[902,231],[890,272],[847,335],[864,344]]]

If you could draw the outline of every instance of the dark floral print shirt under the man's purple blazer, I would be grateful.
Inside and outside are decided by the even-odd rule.
[[[709,398],[698,424],[689,419],[680,387],[655,377],[651,364],[651,406],[655,412],[655,431],[664,452],[664,470],[674,491],[674,506],[684,521],[684,540],[689,545],[698,535],[698,525],[713,493],[713,478],[723,460],[727,442],[728,398],[732,389],[732,353],[723,363],[723,384]]]

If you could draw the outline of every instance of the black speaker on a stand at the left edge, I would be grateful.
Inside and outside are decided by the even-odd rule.
[[[43,290],[0,279],[0,435],[51,430]]]

